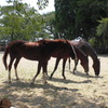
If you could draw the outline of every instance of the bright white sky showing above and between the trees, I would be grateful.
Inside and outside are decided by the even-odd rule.
[[[37,1],[38,0],[22,0],[22,1],[25,2],[25,3],[30,4],[30,6],[33,6],[35,9],[38,10],[38,6],[37,6]],[[0,5],[5,5],[5,4],[8,4],[6,0],[0,0]],[[55,10],[54,9],[54,0],[49,0],[49,5],[44,10],[39,11],[39,13],[43,14],[43,13],[52,12],[54,10]]]

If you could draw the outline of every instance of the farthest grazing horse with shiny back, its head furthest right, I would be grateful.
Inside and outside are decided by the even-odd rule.
[[[93,69],[96,76],[100,72],[100,62],[97,57],[95,50],[91,44],[82,38],[75,39],[70,41],[70,44],[80,49],[86,56],[90,56],[93,59]],[[77,69],[79,59],[76,60],[75,70]],[[70,63],[69,63],[70,64]]]

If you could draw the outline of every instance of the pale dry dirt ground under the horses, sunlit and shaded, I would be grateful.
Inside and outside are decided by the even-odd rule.
[[[90,76],[78,65],[76,75],[66,66],[66,80],[62,77],[62,62],[48,84],[43,84],[42,72],[31,85],[37,71],[37,62],[22,58],[18,65],[19,81],[15,80],[12,69],[12,83],[8,82],[9,72],[2,64],[3,52],[0,53],[0,98],[9,98],[17,108],[108,108],[108,55],[100,58],[100,76],[96,78],[90,59]],[[49,62],[49,75],[53,71],[55,59]],[[71,62],[71,70],[73,62]]]

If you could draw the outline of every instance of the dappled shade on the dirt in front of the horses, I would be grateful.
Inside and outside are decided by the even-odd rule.
[[[53,78],[54,80],[57,79]],[[57,81],[63,80],[58,79]],[[37,91],[33,91],[35,89],[41,91],[41,95],[37,94]],[[95,102],[89,102],[80,93],[77,93],[78,91],[78,89],[67,89],[53,84],[30,85],[21,81],[14,81],[11,84],[4,82],[4,85],[0,89],[0,92],[6,94],[11,99],[13,106],[21,108],[99,108]],[[21,95],[15,94],[15,92],[23,93]]]

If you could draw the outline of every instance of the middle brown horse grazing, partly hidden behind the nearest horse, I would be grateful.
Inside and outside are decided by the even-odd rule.
[[[71,44],[70,41],[68,41],[68,42]],[[76,55],[77,55],[77,59],[81,60],[81,65],[84,68],[84,71],[87,73],[89,72],[89,59],[87,59],[87,56],[80,49],[78,49],[76,46],[73,46],[73,48],[75,48],[75,52],[76,52]],[[63,52],[65,52],[65,53],[63,53]],[[67,58],[69,58],[70,56],[71,55],[69,54],[69,51],[66,48],[64,49],[64,51],[56,52],[56,54],[52,55],[52,57],[56,57],[56,63],[55,63],[54,70],[51,73],[50,79],[52,79],[54,72],[57,69],[59,60],[62,58],[63,58],[63,77],[64,77],[64,79],[66,79],[66,77],[65,77],[65,65],[66,65]],[[77,63],[77,60],[75,60],[75,63]]]

